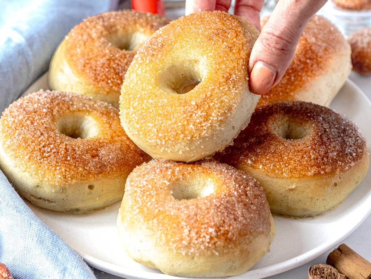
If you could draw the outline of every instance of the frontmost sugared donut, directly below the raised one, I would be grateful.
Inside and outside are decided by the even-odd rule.
[[[186,277],[224,277],[246,272],[267,252],[269,252],[270,245],[276,233],[276,227],[268,203],[266,202],[265,193],[255,179],[250,176],[246,177],[241,170],[237,170],[232,166],[217,161],[204,160],[194,164],[183,164],[181,162],[162,160],[165,164],[168,164],[165,166],[163,164],[161,165],[161,163],[158,164],[156,161],[158,162],[158,160],[152,160],[149,163],[137,167],[129,175],[127,180],[127,184],[129,185],[126,185],[128,191],[122,199],[121,207],[118,212],[118,235],[130,258],[151,268],[160,269],[162,272],[169,275]],[[208,165],[209,162],[210,165]],[[231,217],[232,219],[229,219],[229,214],[225,211],[215,214],[214,217],[217,220],[216,222],[220,222],[219,218],[222,218],[224,222],[226,222],[226,230],[223,230],[221,235],[214,236],[215,239],[210,240],[211,244],[206,246],[203,244],[207,243],[207,241],[200,242],[198,239],[208,239],[208,236],[210,236],[210,228],[214,226],[212,225],[212,221],[196,221],[196,227],[192,227],[190,230],[185,229],[184,232],[177,232],[177,230],[174,230],[174,227],[178,226],[173,227],[171,223],[172,220],[174,220],[172,218],[173,215],[167,215],[167,217],[164,217],[160,214],[160,212],[166,210],[168,206],[175,206],[175,208],[179,208],[178,205],[180,207],[183,205],[186,207],[193,207],[197,206],[197,203],[202,203],[204,206],[207,206],[207,200],[204,200],[202,197],[186,201],[176,201],[173,199],[168,200],[168,197],[172,195],[171,184],[179,181],[177,177],[180,179],[187,179],[187,177],[189,177],[188,174],[191,173],[190,169],[193,172],[196,169],[192,167],[193,165],[201,165],[201,169],[197,169],[200,173],[207,173],[206,179],[212,179],[213,174],[215,174],[216,179],[217,177],[227,175],[225,176],[226,180],[221,178],[223,181],[222,183],[225,185],[223,186],[225,187],[223,188],[223,191],[229,191],[231,189],[234,189],[232,191],[237,191],[232,192],[233,194],[227,194],[232,195],[231,197],[238,197],[239,195],[246,195],[246,193],[249,193],[247,195],[251,195],[249,196],[249,199],[251,198],[250,203],[254,205],[251,207],[247,205],[249,208],[248,210],[251,211],[243,211],[246,213],[246,215],[243,216],[255,215],[255,217],[251,218],[241,217],[241,219],[238,219],[237,221],[235,217],[242,213],[242,211],[240,211],[241,209],[232,213],[234,216]],[[205,172],[202,169],[204,166],[206,166]],[[213,168],[211,173],[210,168],[208,168],[210,166]],[[233,172],[225,172],[226,169],[232,170]],[[158,170],[160,170],[160,172],[158,172]],[[163,176],[161,174],[169,173],[169,171],[173,172],[173,175],[169,174],[170,180],[165,178],[167,177],[166,175]],[[202,176],[198,179],[202,180]],[[150,187],[150,184],[148,184],[156,181],[160,183],[157,186],[154,185]],[[162,183],[164,185],[162,185]],[[243,193],[239,194],[239,187],[246,187],[244,188],[246,189],[246,192],[242,190]],[[152,194],[150,194],[151,190],[154,191]],[[217,200],[225,198],[224,195],[222,195],[223,192],[218,193],[219,194],[213,197],[213,199]],[[152,208],[152,205],[150,205],[150,208],[148,207],[149,205],[146,202],[147,199],[153,200],[154,203],[158,203],[159,199],[160,203],[161,200],[165,200],[165,202],[160,206],[160,211],[156,216],[153,216],[152,213],[148,211],[148,209]],[[236,202],[237,201],[238,199]],[[181,205],[178,204],[178,202],[180,202]],[[228,202],[228,200],[226,200],[226,202]],[[234,202],[230,203],[230,205],[233,206]],[[214,206],[212,207],[214,208]],[[202,208],[202,206],[200,208]],[[231,210],[233,209],[234,208],[231,208]],[[132,210],[138,210],[138,213],[132,214]],[[156,210],[157,209],[153,208],[154,212],[156,212]],[[171,211],[176,209],[168,210]],[[211,212],[216,213],[214,211],[215,209],[210,210]],[[195,213],[193,210],[191,212],[193,212],[193,214]],[[261,215],[261,212],[265,213]],[[177,215],[177,213],[175,213],[175,215]],[[220,215],[224,217],[220,217]],[[213,217],[213,215],[211,217]],[[152,218],[154,218],[153,220],[157,220],[157,222],[151,223],[151,225],[147,224],[147,221],[152,220]],[[175,217],[175,219],[178,220],[177,217]],[[192,217],[191,219],[193,220]],[[184,222],[187,223],[191,219],[186,217]],[[257,219],[262,221],[257,221]],[[249,223],[245,223],[247,220],[249,220]],[[241,225],[243,229],[242,227],[239,229],[240,222],[244,222],[244,225],[246,225]],[[260,225],[260,222],[265,225],[261,227],[262,225]],[[156,224],[159,225],[158,228],[156,227]],[[204,224],[209,225],[204,226]],[[201,225],[202,228],[197,229],[197,226],[199,225]],[[237,230],[229,229],[229,226],[237,226]],[[183,225],[181,225],[181,227],[183,227]],[[188,225],[185,225],[184,228],[188,228]],[[207,228],[209,228],[209,230],[207,230]],[[169,235],[169,238],[165,237],[167,240],[162,238],[159,239],[158,230],[160,230],[161,235],[167,232],[166,235]],[[226,238],[228,231],[229,233],[232,233],[232,235]],[[174,234],[184,236],[190,235],[193,240],[190,240],[187,237],[173,239],[171,235]],[[163,241],[165,241],[166,244],[164,244]]]

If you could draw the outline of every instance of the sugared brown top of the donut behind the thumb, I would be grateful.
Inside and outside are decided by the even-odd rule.
[[[262,19],[262,26],[268,17]],[[279,101],[295,101],[296,93],[306,89],[308,83],[329,70],[336,53],[347,49],[340,31],[322,16],[313,16],[306,25],[294,58],[282,80],[267,94],[262,95],[258,106]]]

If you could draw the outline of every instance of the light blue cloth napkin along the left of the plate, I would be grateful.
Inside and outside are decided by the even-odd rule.
[[[44,73],[59,42],[111,0],[2,1],[0,112]],[[31,212],[0,172],[0,262],[14,278],[95,278],[85,262]]]

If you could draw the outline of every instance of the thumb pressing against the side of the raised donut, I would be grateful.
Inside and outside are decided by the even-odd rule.
[[[326,0],[280,0],[254,44],[249,61],[249,86],[265,94],[285,74],[309,19]]]

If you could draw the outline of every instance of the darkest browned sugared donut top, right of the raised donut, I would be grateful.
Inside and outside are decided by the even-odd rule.
[[[285,139],[295,127],[302,127],[303,137]],[[345,172],[367,152],[353,122],[326,107],[296,101],[259,107],[234,144],[215,157],[268,176],[309,177]]]

